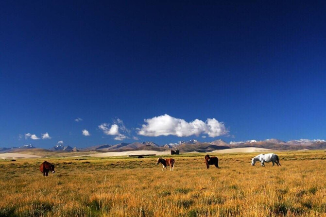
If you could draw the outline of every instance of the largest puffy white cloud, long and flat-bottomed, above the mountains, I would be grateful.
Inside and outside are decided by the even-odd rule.
[[[199,119],[187,122],[184,119],[165,114],[163,116],[144,119],[144,121],[146,124],[143,124],[141,129],[138,129],[139,135],[176,135],[183,137],[207,134],[209,137],[216,137],[228,133],[224,123],[217,121],[215,118],[207,118],[205,122]]]

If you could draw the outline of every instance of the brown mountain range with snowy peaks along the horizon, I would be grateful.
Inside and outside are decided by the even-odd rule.
[[[279,139],[266,139],[266,140],[247,140],[240,142],[230,142],[227,143],[222,139],[218,139],[212,142],[199,142],[195,139],[189,141],[179,141],[178,143],[170,143],[165,145],[157,145],[156,143],[150,142],[134,142],[134,143],[119,143],[115,145],[103,144],[98,146],[91,146],[83,149],[72,148],[70,146],[63,146],[62,144],[52,147],[51,151],[99,151],[99,152],[108,152],[108,151],[130,151],[130,150],[180,150],[180,152],[209,152],[213,150],[222,150],[222,149],[232,149],[232,148],[247,148],[247,147],[256,147],[256,148],[265,148],[272,150],[320,150],[326,149],[325,140],[291,140],[291,141],[282,141]],[[33,145],[24,145],[21,147],[14,148],[0,148],[0,153],[12,152],[16,150],[25,150],[25,149],[34,149]]]

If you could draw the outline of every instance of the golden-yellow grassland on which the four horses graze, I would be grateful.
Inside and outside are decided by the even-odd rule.
[[[281,167],[250,165],[256,154],[173,156],[175,171],[156,158],[0,160],[0,216],[273,217],[326,216],[326,152],[279,152]]]

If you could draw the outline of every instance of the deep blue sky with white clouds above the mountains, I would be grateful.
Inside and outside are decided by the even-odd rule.
[[[2,1],[0,14],[0,147],[326,139],[325,2]]]

